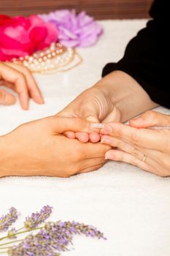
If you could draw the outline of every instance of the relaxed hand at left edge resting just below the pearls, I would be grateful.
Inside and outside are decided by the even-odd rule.
[[[20,64],[0,61],[0,86],[7,86],[15,91],[20,99],[20,105],[24,110],[28,110],[28,101],[31,97],[34,102],[42,104],[44,102],[36,81],[31,72]],[[0,105],[15,104],[15,96],[0,89]]]

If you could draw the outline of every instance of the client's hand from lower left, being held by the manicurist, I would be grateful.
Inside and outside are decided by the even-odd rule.
[[[50,116],[1,136],[0,176],[68,177],[104,165],[110,146],[70,140],[66,130],[90,132],[90,122]]]

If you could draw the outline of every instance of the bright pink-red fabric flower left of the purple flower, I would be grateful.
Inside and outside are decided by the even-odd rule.
[[[58,40],[58,29],[38,15],[29,18],[0,15],[0,60],[31,55]]]

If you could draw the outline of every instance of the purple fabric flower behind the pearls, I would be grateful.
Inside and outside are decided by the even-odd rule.
[[[102,33],[101,26],[85,12],[76,15],[75,10],[58,10],[39,17],[57,26],[58,39],[66,47],[94,45]]]

